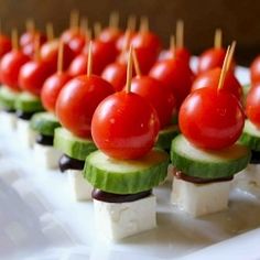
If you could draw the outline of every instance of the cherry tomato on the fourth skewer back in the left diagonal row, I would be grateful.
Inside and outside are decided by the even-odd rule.
[[[41,95],[43,83],[54,73],[47,63],[31,61],[24,64],[19,73],[19,85],[35,96]]]

